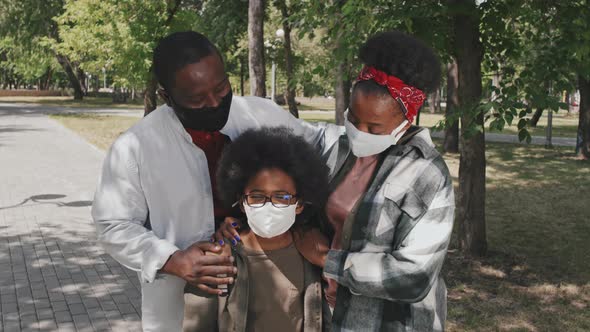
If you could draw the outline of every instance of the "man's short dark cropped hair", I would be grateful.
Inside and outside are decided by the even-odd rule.
[[[174,87],[176,72],[211,54],[221,54],[204,35],[195,31],[174,32],[164,37],[154,49],[154,74],[164,89]]]

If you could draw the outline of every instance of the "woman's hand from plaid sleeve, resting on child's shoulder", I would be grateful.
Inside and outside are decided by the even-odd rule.
[[[311,264],[324,268],[330,250],[328,238],[317,228],[308,231],[294,230],[293,239],[299,253]]]

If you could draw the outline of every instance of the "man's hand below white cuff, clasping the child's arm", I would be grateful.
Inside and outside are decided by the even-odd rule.
[[[206,293],[221,295],[223,290],[212,286],[233,283],[233,276],[238,272],[233,265],[234,258],[223,255],[206,256],[206,251],[220,253],[221,247],[210,242],[195,243],[186,250],[178,250],[172,254],[160,272],[182,278]],[[220,274],[228,277],[217,277]]]

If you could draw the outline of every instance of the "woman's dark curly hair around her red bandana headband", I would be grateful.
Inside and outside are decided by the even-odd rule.
[[[424,92],[435,90],[440,83],[440,61],[434,51],[417,38],[400,31],[373,35],[361,46],[359,58],[365,65],[396,76]],[[380,87],[373,81],[357,85],[364,85],[363,90],[368,88],[372,91]],[[383,87],[379,90],[387,93]]]

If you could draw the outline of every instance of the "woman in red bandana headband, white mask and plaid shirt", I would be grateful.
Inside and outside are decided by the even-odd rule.
[[[346,135],[324,155],[323,235],[305,232],[296,245],[323,268],[334,331],[442,331],[453,187],[428,130],[411,125],[439,83],[440,63],[395,31],[371,37],[359,57]],[[226,222],[217,234],[232,231]]]

